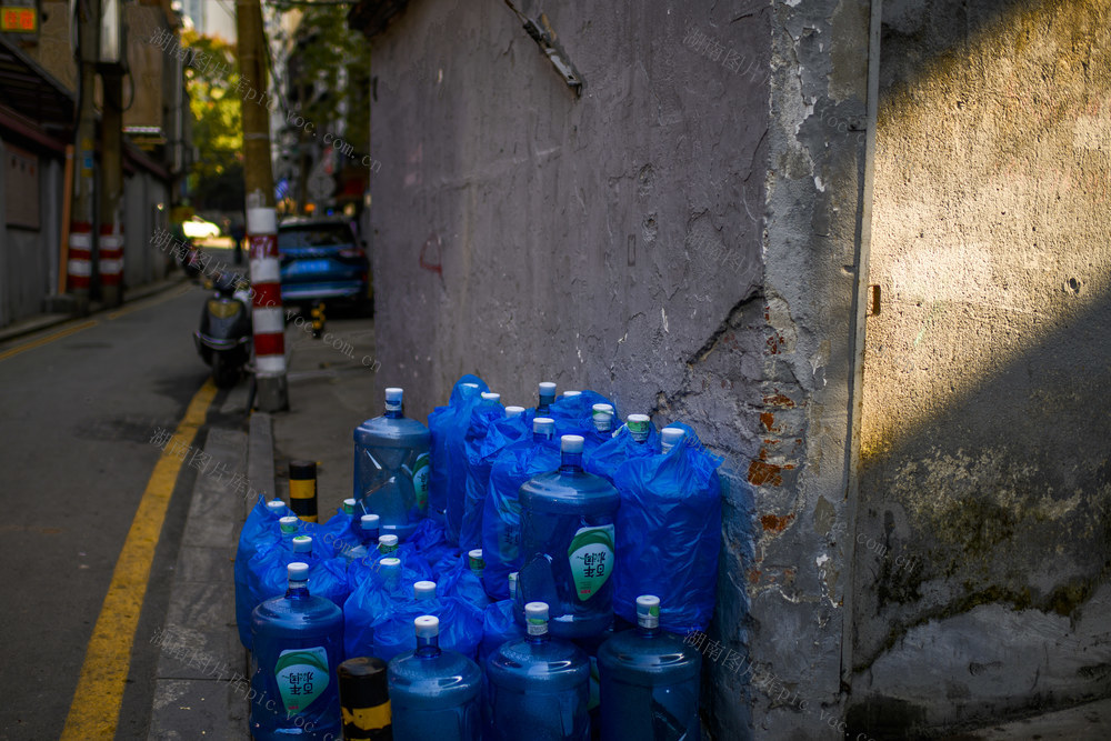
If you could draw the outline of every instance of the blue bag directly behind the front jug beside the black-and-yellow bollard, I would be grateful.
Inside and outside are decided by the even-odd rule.
[[[434,597],[418,600],[409,597],[393,600],[390,609],[380,613],[372,623],[374,655],[382,661],[417,650],[413,620],[421,615],[440,619],[440,648],[459,651],[473,660],[482,641],[482,611],[456,597]]]

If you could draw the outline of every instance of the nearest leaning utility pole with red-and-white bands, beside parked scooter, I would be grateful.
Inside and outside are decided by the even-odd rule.
[[[289,409],[286,379],[286,323],[281,310],[278,263],[278,216],[270,162],[270,110],[267,90],[266,33],[259,0],[237,0],[239,86],[243,111],[243,179],[247,193],[247,239],[251,256],[254,320],[256,399],[260,411]],[[250,90],[250,91],[249,91]]]

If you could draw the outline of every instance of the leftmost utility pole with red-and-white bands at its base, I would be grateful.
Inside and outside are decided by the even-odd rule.
[[[70,214],[67,271],[69,290],[76,299],[78,313],[89,311],[89,284],[92,279],[92,224],[96,206],[96,139],[97,111],[93,108],[96,63],[100,52],[100,0],[78,0],[78,50],[81,76],[81,108],[78,113],[77,198]]]

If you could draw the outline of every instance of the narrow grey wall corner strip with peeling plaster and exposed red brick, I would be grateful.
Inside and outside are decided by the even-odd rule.
[[[773,4],[762,441],[750,468],[757,738],[841,738],[869,2]],[[777,683],[778,681],[778,683]],[[784,692],[784,689],[787,690]]]

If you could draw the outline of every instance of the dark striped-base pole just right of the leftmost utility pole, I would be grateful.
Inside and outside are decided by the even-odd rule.
[[[123,76],[116,69],[100,73],[104,106],[100,119],[100,256],[101,294],[110,307],[119,306],[123,278]]]

